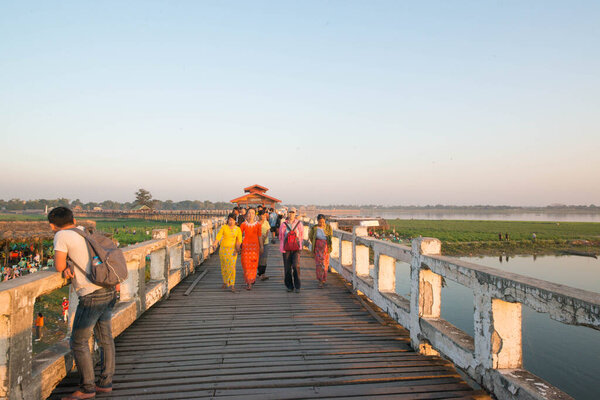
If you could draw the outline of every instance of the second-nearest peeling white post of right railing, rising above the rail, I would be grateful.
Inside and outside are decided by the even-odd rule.
[[[439,318],[442,299],[442,277],[429,270],[423,263],[423,255],[441,254],[442,244],[434,238],[418,238],[412,241],[410,268],[410,340],[413,348],[424,353],[430,346],[421,337],[421,318]]]

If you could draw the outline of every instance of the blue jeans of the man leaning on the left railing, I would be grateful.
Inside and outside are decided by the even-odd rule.
[[[92,331],[98,345],[102,348],[102,369],[98,386],[112,386],[112,377],[115,373],[115,342],[110,320],[116,302],[117,293],[114,288],[99,289],[79,298],[70,343],[81,376],[80,386],[83,392],[96,391],[94,361],[88,345]]]

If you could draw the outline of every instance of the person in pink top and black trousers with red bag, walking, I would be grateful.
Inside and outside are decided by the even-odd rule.
[[[279,250],[283,255],[284,283],[288,292],[300,292],[300,250],[304,226],[296,219],[296,208],[288,211],[287,219],[279,227]]]

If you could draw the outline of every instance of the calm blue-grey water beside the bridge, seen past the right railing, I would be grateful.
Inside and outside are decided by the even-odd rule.
[[[600,260],[577,256],[461,257],[465,261],[580,289],[600,291]],[[400,294],[410,292],[409,266],[397,264]],[[442,318],[473,335],[473,294],[446,280]],[[523,306],[523,364],[576,399],[600,398],[600,332],[561,324]]]

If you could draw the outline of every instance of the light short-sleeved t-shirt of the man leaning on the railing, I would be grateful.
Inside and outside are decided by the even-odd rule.
[[[78,226],[77,228],[81,230],[84,229],[82,226]],[[67,256],[81,268],[84,268],[88,274],[92,271],[90,253],[85,243],[85,239],[77,232],[70,230],[56,232],[54,235],[54,250],[67,253]],[[73,270],[75,272],[75,278],[72,283],[78,296],[85,296],[98,289],[102,289],[102,286],[94,285],[90,282],[79,268],[75,267]]]

